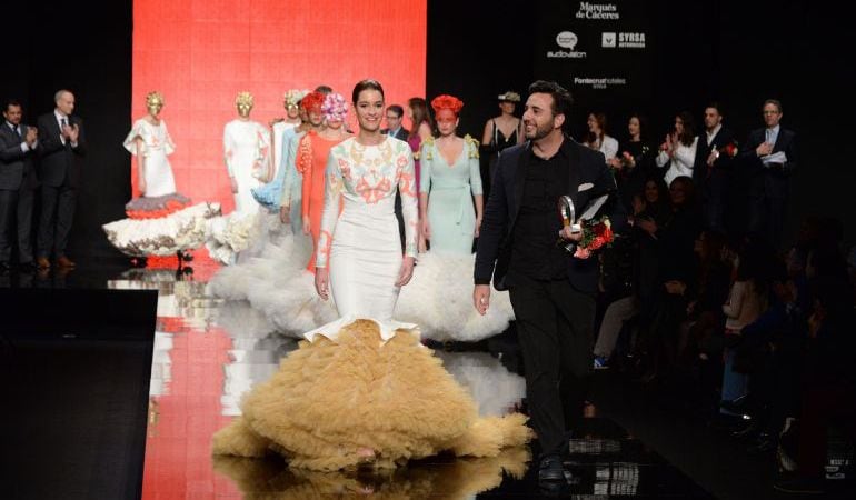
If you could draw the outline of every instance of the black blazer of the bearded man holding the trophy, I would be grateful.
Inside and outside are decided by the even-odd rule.
[[[561,148],[570,158],[568,164],[568,196],[575,207],[585,207],[590,199],[605,192],[616,191],[615,178],[606,164],[604,154],[591,150],[565,137]],[[520,200],[524,194],[527,158],[531,150],[531,141],[504,149],[497,161],[490,198],[485,208],[485,216],[479,230],[476,267],[474,278],[477,284],[490,283],[505,290],[505,276],[511,258],[514,246],[512,234]],[[591,183],[593,187],[578,191],[580,184]],[[627,214],[621,203],[610,201],[609,217],[613,230],[618,233],[627,224]],[[556,200],[558,202],[558,200]],[[556,214],[558,216],[558,212]],[[577,259],[568,254],[568,279],[570,284],[583,292],[597,291],[598,266],[597,258]]]

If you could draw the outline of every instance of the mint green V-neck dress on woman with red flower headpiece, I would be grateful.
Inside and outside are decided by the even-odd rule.
[[[431,252],[469,256],[476,232],[472,197],[481,194],[478,142],[469,136],[449,164],[434,140],[422,143],[420,193],[428,193]]]

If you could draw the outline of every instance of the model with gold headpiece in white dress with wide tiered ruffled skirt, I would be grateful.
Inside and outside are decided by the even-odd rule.
[[[205,242],[206,219],[219,216],[220,206],[190,207],[190,199],[176,192],[172,167],[167,158],[176,146],[160,118],[163,96],[149,92],[146,108],[148,114],[133,122],[122,143],[137,157],[137,187],[141,196],[125,206],[127,219],[104,224],[103,230],[110,243],[125,254],[142,258],[177,253],[180,267],[181,261],[190,260],[185,251]]]

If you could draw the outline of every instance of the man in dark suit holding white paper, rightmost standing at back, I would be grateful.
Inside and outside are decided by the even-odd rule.
[[[750,182],[748,228],[779,248],[787,217],[788,178],[797,168],[796,133],[779,126],[779,101],[764,101],[763,110],[765,127],[749,133],[740,153]]]

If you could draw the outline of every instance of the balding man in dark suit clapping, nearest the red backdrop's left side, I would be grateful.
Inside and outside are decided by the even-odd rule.
[[[74,111],[74,94],[60,90],[53,96],[53,101],[57,104],[53,112],[42,114],[38,121],[41,131],[38,149],[41,159],[41,220],[36,263],[39,268],[49,268],[52,254],[57,258],[57,266],[69,269],[74,267],[74,262],[66,256],[66,246],[74,219],[86,139],[83,122],[71,114]]]

